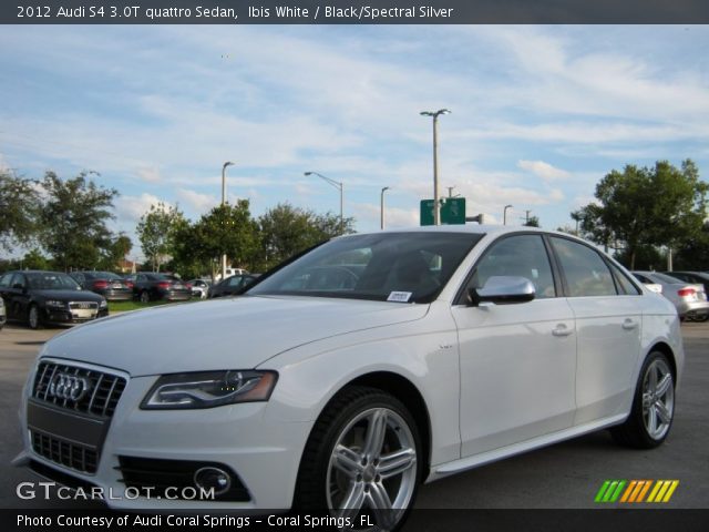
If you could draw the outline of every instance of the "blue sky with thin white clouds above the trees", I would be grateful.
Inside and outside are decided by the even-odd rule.
[[[197,218],[220,200],[339,212],[358,231],[417,225],[442,192],[467,214],[571,224],[625,164],[709,170],[709,27],[3,27],[0,165],[100,173],[115,231],[152,203]],[[140,256],[134,238],[132,256]]]

